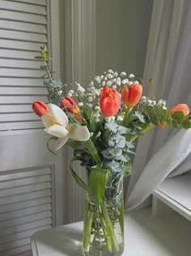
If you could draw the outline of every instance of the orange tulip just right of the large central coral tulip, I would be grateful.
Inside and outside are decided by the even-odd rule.
[[[129,89],[127,85],[124,85],[121,96],[125,106],[133,107],[137,105],[142,97],[142,85],[131,85]]]

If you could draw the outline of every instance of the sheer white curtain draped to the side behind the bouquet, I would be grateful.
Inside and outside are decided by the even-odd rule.
[[[154,0],[144,79],[146,96],[168,107],[191,106],[191,1]],[[132,210],[168,176],[191,169],[191,129],[155,128],[139,138],[125,209]]]

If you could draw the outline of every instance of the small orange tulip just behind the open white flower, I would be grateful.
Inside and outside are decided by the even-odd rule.
[[[74,113],[76,119],[81,119],[82,115],[80,114],[79,111],[79,106],[78,104],[74,101],[73,98],[66,97],[62,99],[61,105],[65,107],[64,111]]]

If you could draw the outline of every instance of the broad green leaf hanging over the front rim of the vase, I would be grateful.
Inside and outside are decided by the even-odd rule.
[[[91,167],[89,176],[89,193],[91,201],[100,208],[100,202],[104,196],[106,183],[108,180],[108,169],[101,169],[100,164]]]

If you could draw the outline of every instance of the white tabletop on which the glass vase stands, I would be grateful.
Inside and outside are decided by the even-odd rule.
[[[71,223],[32,236],[34,256],[82,256],[83,223]],[[125,215],[123,256],[190,256],[191,223],[181,215],[155,218],[151,207]],[[93,256],[93,255],[92,255]]]

